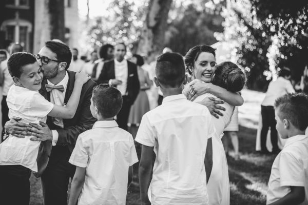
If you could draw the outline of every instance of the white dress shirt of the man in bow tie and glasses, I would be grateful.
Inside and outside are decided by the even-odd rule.
[[[53,89],[50,91],[50,102],[58,106],[63,106],[64,97],[65,97],[67,84],[68,84],[68,73],[67,72],[65,73],[64,78],[60,81],[59,84],[54,85],[49,80],[47,80],[47,84],[51,86],[63,86],[64,87],[64,92],[61,92],[60,90],[57,90],[57,89]],[[62,118],[52,117],[52,122],[54,125],[64,128]],[[55,146],[59,138],[59,133],[56,130],[51,130],[51,131],[52,131],[52,145]]]

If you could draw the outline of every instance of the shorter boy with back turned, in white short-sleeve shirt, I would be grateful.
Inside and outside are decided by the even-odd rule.
[[[133,138],[113,119],[122,107],[121,92],[108,84],[94,87],[90,110],[93,128],[79,135],[69,162],[77,166],[69,203],[125,205],[138,162]]]

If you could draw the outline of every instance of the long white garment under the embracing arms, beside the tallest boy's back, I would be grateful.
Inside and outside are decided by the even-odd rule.
[[[199,95],[194,102],[200,102],[205,97],[214,97],[215,95],[210,93],[205,93]],[[218,100],[221,100],[217,98]],[[207,192],[208,192],[208,204],[209,205],[228,205],[230,204],[230,185],[229,185],[229,175],[228,175],[228,163],[225,155],[224,147],[221,141],[223,130],[227,127],[232,117],[234,111],[234,106],[224,102],[220,104],[221,107],[224,107],[226,110],[221,111],[223,116],[216,118],[211,116],[211,119],[214,123],[216,133],[212,137],[212,146],[213,146],[213,168],[211,170],[210,177],[207,183]]]

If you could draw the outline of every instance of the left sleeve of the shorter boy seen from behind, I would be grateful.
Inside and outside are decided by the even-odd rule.
[[[87,167],[88,160],[89,155],[87,153],[87,150],[85,149],[82,137],[79,136],[77,138],[75,148],[68,162],[78,167]]]

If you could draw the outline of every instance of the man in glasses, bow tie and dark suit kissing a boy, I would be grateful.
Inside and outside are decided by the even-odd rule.
[[[35,55],[44,73],[40,93],[53,104],[65,106],[73,91],[75,72],[68,71],[72,54],[63,43],[48,41]],[[90,111],[90,99],[95,83],[88,80],[83,86],[79,106],[72,119],[47,117],[42,127],[28,125],[11,119],[5,129],[16,137],[33,135],[42,141],[37,157],[38,173],[41,176],[44,204],[67,204],[69,178],[73,178],[75,166],[68,160],[80,133],[92,128],[95,118]],[[46,169],[45,169],[46,168]]]

